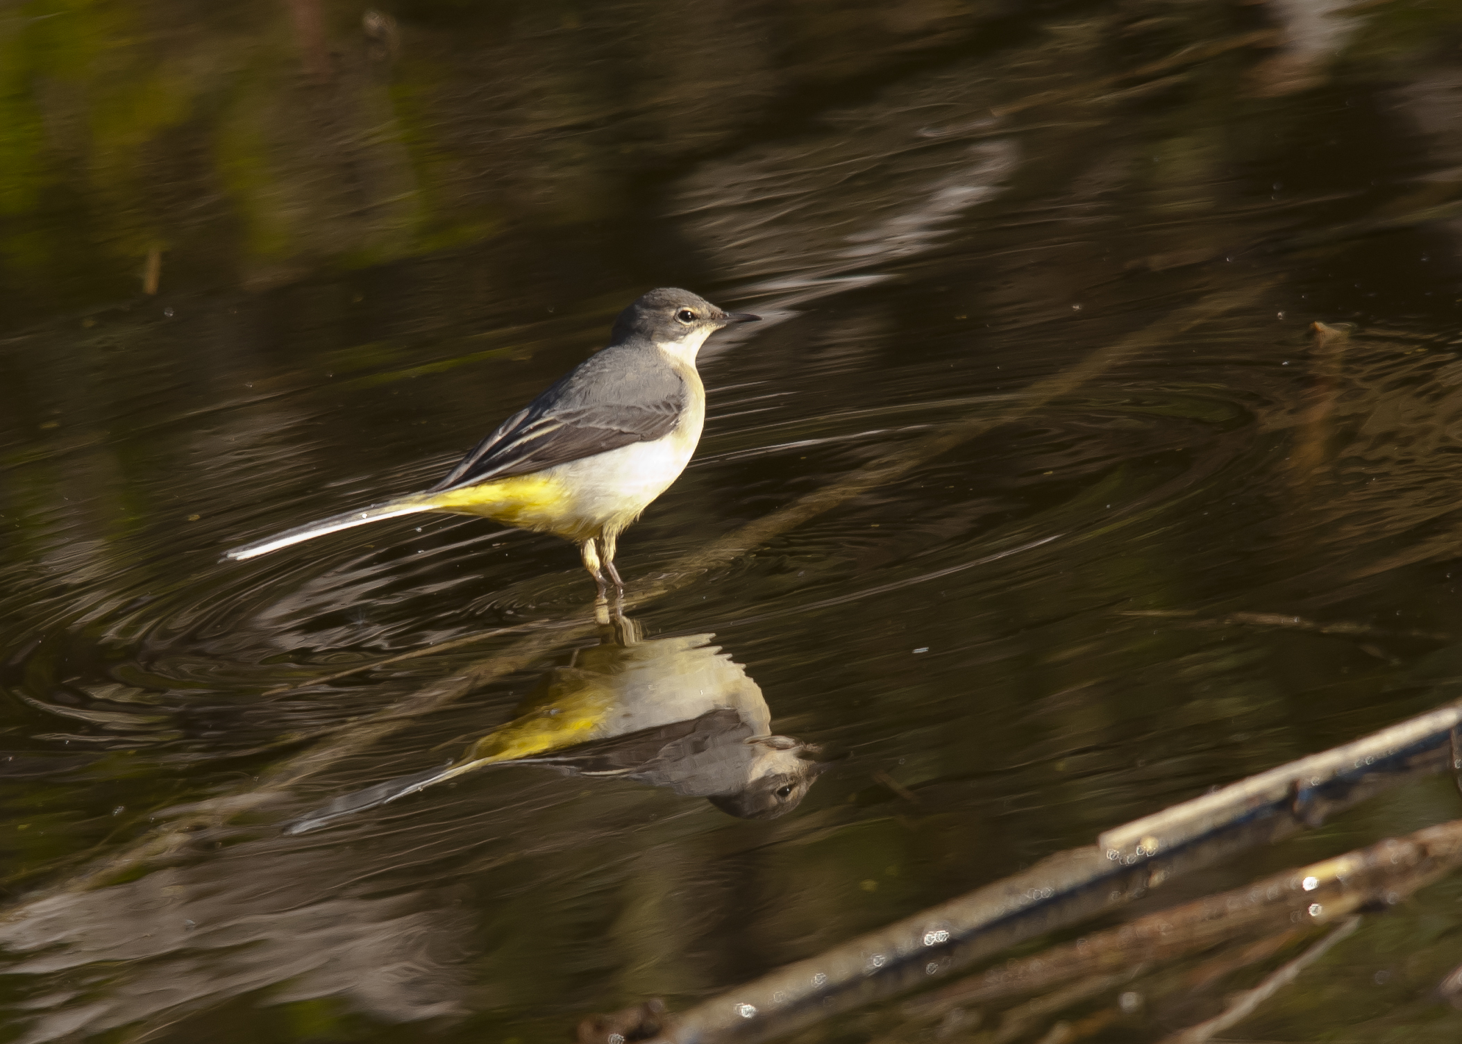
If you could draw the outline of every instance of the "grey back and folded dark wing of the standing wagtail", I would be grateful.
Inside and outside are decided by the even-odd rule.
[[[592,357],[503,421],[428,493],[526,475],[670,434],[686,405],[680,374],[623,357],[614,367],[614,360],[604,358],[611,351]]]

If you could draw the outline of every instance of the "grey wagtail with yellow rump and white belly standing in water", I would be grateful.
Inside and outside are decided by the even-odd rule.
[[[722,311],[689,290],[652,290],[614,320],[607,348],[503,421],[430,490],[287,529],[224,557],[253,559],[415,512],[484,515],[572,540],[598,601],[607,601],[608,583],[623,595],[614,567],[620,534],[680,477],[700,442],[706,390],[696,352],[722,326],[757,319]]]

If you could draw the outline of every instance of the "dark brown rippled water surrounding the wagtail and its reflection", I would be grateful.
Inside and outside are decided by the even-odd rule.
[[[0,104],[7,1038],[561,1040],[1453,695],[1452,4],[32,0],[0,13]],[[766,322],[702,352],[700,450],[621,542],[645,655],[713,635],[705,670],[846,757],[775,820],[503,766],[281,835],[509,721],[595,643],[558,627],[592,589],[472,519],[221,551],[434,481],[659,284]],[[1184,893],[1458,807],[1408,785]],[[1456,1040],[1458,896],[1234,1032]]]

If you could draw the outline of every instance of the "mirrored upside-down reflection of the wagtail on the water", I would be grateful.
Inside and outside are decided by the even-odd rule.
[[[832,765],[822,747],[772,734],[762,689],[713,635],[645,640],[636,621],[601,626],[601,643],[548,671],[518,708],[444,768],[389,779],[291,822],[304,833],[490,765],[639,779],[703,797],[743,819],[795,809]]]

